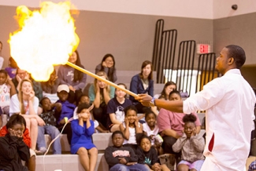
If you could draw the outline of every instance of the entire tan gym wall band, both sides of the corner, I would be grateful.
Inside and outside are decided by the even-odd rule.
[[[0,5],[0,41],[3,42],[2,56],[6,59],[4,67],[7,66],[9,58],[9,33],[17,30],[17,23],[13,19],[15,11],[14,6]],[[119,71],[139,71],[143,60],[151,60],[154,29],[158,19],[165,20],[165,30],[177,29],[177,49],[183,40],[213,42],[213,52],[217,54],[224,45],[241,45],[247,53],[245,67],[255,66],[255,18],[256,13],[206,20],[92,11],[80,11],[80,15],[75,16],[76,32],[80,36],[78,50],[84,67],[94,70],[104,54],[113,53]],[[251,68],[254,67],[250,67],[250,70]],[[250,71],[245,71],[244,76],[250,79],[251,85],[256,85]]]

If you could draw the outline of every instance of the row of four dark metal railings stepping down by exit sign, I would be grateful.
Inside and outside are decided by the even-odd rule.
[[[195,88],[196,93],[207,82],[219,76],[219,73],[215,71],[215,53],[201,54],[198,58],[198,67],[196,68],[196,42],[194,40],[180,42],[179,54],[175,56],[177,30],[164,31],[164,25],[164,20],[158,20],[154,34],[152,64],[153,71],[157,71],[157,83],[175,80],[177,89],[191,94],[191,91],[194,93]],[[194,87],[191,89],[192,75],[195,78],[196,69],[198,70],[196,86],[193,85]],[[176,75],[175,73],[173,74],[173,71],[176,71]],[[175,76],[176,78],[172,78]]]

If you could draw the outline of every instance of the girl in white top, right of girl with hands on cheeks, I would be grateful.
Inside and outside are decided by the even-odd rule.
[[[161,139],[161,136],[158,135],[159,129],[158,129],[158,125],[156,124],[156,119],[157,119],[157,116],[154,114],[153,111],[151,111],[150,109],[145,111],[146,122],[143,123],[143,133],[150,138],[151,145],[152,147],[156,148],[156,150],[158,151],[158,155],[162,155],[163,154],[163,149],[161,148],[162,139]],[[160,142],[157,136],[159,136],[159,138],[161,139]]]

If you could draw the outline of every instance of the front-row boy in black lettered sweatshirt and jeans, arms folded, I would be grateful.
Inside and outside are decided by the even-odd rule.
[[[113,146],[109,146],[105,150],[106,162],[109,165],[109,171],[115,170],[149,170],[147,166],[137,164],[138,157],[131,147],[124,147],[124,134],[121,131],[115,131],[112,134]]]

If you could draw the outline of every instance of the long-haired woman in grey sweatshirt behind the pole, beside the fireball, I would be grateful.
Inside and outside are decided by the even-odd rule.
[[[83,67],[77,50],[69,56],[69,62],[76,64],[78,67]],[[60,79],[60,84],[69,86],[69,103],[73,104],[76,102],[78,104],[78,100],[83,94],[82,89],[86,84],[87,75],[69,65],[61,65],[58,69],[58,78]]]

